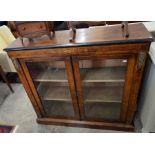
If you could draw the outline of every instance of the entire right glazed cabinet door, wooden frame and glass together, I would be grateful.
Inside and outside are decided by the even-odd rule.
[[[77,56],[72,61],[81,118],[125,122],[134,58]]]

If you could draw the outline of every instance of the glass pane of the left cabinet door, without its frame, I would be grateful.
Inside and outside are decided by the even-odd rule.
[[[28,62],[47,117],[74,117],[64,61]]]

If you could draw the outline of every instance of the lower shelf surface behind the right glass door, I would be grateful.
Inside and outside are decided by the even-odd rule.
[[[84,102],[121,103],[123,87],[84,87]]]

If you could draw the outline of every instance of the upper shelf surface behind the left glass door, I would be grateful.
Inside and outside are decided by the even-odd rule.
[[[65,69],[47,69],[34,71],[32,78],[34,81],[39,82],[68,82]]]

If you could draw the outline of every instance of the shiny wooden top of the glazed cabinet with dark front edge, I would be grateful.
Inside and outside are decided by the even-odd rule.
[[[69,48],[81,46],[102,46],[112,44],[145,43],[153,41],[151,34],[142,23],[129,24],[129,37],[126,38],[121,25],[98,26],[77,29],[73,43],[69,41],[70,31],[56,31],[50,40],[47,35],[29,41],[27,38],[17,38],[4,50],[7,52],[21,50],[37,50],[50,48]]]

